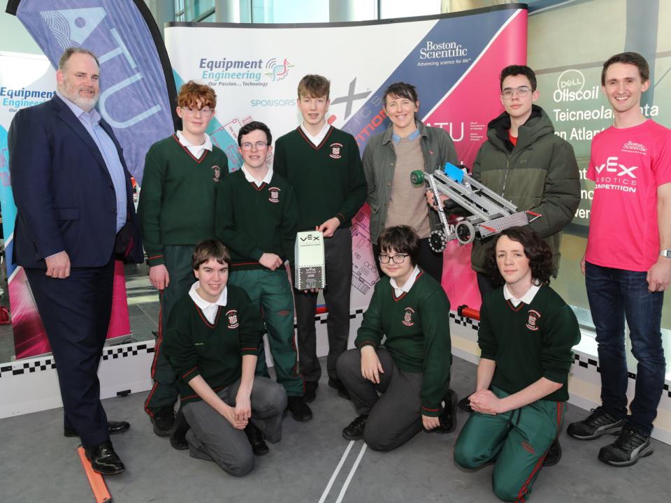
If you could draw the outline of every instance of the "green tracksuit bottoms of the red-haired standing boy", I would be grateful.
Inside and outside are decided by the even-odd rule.
[[[154,346],[154,360],[152,362],[152,390],[145,401],[145,411],[150,416],[161,407],[169,407],[177,402],[180,392],[177,388],[177,374],[170,366],[161,348],[163,336],[168,330],[168,317],[175,305],[189,293],[192,284],[196,282],[191,257],[194,247],[190,245],[166,245],[163,254],[168,269],[168,288],[159,293],[161,311],[159,313],[159,333]]]

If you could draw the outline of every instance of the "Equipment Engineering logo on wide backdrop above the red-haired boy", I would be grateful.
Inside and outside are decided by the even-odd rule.
[[[267,87],[268,82],[279,82],[293,68],[287,58],[281,63],[277,59],[199,59],[201,78],[209,85]]]

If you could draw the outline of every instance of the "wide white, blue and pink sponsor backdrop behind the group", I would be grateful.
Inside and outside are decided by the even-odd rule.
[[[389,126],[382,94],[409,82],[419,94],[419,117],[446,129],[470,168],[487,123],[503,112],[499,73],[526,64],[527,10],[507,4],[454,15],[328,24],[170,23],[166,47],[178,85],[194,79],[217,92],[212,141],[233,168],[242,159],[237,134],[252,120],[273,137],[301,121],[296,87],[303,75],[331,80],[330,124],[352,133],[361,152]],[[318,191],[328,187],[315,187]],[[366,307],[377,281],[368,234],[368,207],[352,226],[352,309]],[[328,278],[326,278],[328,282]],[[470,245],[448,245],[442,285],[452,306],[479,307]]]

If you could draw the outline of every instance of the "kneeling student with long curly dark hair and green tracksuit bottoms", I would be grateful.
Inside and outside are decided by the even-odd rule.
[[[474,414],[456,441],[454,460],[468,469],[496,460],[494,494],[526,501],[561,430],[580,330],[572,309],[548,286],[552,252],[530,228],[503,231],[489,260],[505,284],[487,293],[480,308],[477,391],[469,397]]]

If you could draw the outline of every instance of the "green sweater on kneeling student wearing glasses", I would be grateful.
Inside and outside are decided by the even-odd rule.
[[[377,348],[382,342],[398,368],[424,374],[421,414],[440,415],[452,363],[449,300],[442,286],[426,272],[421,271],[410,291],[398,298],[389,279],[375,285],[354,344]]]

